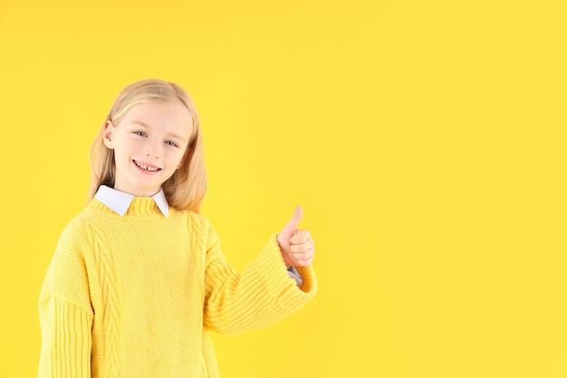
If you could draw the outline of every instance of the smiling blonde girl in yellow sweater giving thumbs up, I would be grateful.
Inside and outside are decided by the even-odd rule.
[[[217,377],[209,331],[260,328],[314,296],[299,207],[242,274],[226,262],[198,214],[200,124],[177,84],[122,90],[91,168],[91,201],[63,230],[43,282],[39,377]]]

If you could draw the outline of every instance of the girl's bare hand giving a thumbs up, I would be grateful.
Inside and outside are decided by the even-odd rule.
[[[287,267],[309,267],[313,262],[315,241],[309,231],[297,228],[302,217],[303,208],[298,206],[293,212],[292,219],[277,236],[283,262]]]

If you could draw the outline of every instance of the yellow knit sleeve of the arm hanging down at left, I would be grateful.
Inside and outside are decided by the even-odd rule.
[[[91,377],[93,312],[81,230],[63,231],[43,280],[39,378]]]

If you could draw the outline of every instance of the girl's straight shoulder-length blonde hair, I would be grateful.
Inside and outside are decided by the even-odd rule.
[[[186,107],[193,120],[193,131],[187,143],[182,166],[173,176],[162,184],[162,189],[168,199],[169,206],[178,210],[193,210],[198,212],[207,191],[207,172],[203,156],[203,140],[201,125],[197,116],[197,108],[187,91],[174,82],[157,79],[141,80],[124,88],[114,101],[109,115],[102,124],[91,147],[91,188],[89,199],[92,199],[101,185],[114,187],[116,166],[114,150],[104,144],[104,130],[111,121],[118,126],[120,121],[130,111],[131,107],[140,102],[175,102],[180,101]]]

